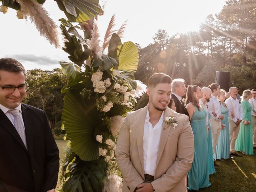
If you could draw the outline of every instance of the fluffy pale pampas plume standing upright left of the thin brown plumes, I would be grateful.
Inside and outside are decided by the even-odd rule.
[[[88,47],[94,51],[96,55],[102,54],[102,48],[100,46],[100,33],[98,30],[97,21],[94,19],[93,27],[91,31],[91,39],[87,40]]]

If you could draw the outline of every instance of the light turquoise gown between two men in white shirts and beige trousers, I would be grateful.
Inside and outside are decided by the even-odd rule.
[[[230,150],[228,109],[222,104],[221,114],[224,116],[224,119],[221,120],[221,122],[223,125],[226,125],[226,127],[220,131],[218,144],[216,146],[215,159],[228,159]]]

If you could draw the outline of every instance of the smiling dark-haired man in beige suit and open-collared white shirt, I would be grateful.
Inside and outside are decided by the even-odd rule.
[[[186,192],[186,174],[194,156],[188,116],[168,108],[170,76],[150,77],[146,107],[127,114],[116,145],[116,160],[124,177],[122,192]],[[177,118],[178,125],[165,122]]]

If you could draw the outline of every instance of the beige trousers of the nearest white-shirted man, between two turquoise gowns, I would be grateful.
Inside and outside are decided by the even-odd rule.
[[[212,130],[212,155],[214,159],[216,145],[218,144],[218,139],[220,135],[221,124],[219,119],[210,119],[210,124]]]

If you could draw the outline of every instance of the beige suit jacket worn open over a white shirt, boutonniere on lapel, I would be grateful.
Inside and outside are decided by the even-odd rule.
[[[143,134],[147,106],[127,114],[117,140],[116,160],[124,177],[122,192],[134,192],[144,182]],[[166,108],[178,126],[163,122],[154,181],[156,192],[186,192],[186,174],[194,158],[194,136],[188,116]]]

